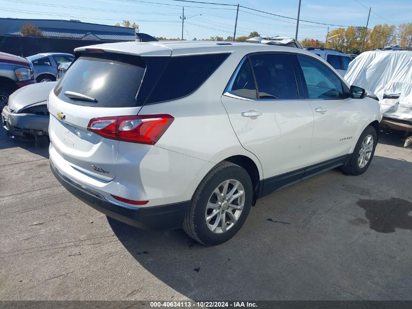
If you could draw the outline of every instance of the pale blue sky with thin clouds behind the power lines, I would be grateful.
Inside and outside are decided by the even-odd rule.
[[[196,1],[196,0],[194,0]],[[298,0],[197,0],[237,4],[259,11],[295,19]],[[236,6],[200,4],[176,0],[0,0],[0,17],[22,19],[76,19],[113,25],[128,20],[139,25],[140,32],[156,37],[181,38],[182,7],[186,20],[183,38],[208,39],[211,36],[233,36]],[[379,23],[398,25],[412,22],[411,0],[302,0],[298,39],[314,38],[325,41],[328,23],[334,25],[366,25]],[[257,31],[267,36],[295,36],[296,21],[240,8],[237,36]],[[329,31],[337,26],[329,26]]]

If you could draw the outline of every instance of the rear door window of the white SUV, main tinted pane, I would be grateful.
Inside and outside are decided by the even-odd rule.
[[[250,57],[260,99],[297,99],[292,64],[286,54],[257,54]]]

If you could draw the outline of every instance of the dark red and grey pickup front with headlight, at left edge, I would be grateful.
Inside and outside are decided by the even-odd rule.
[[[0,52],[0,112],[14,91],[35,82],[29,60]]]

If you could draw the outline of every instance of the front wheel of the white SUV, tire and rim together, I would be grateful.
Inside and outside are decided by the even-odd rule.
[[[355,176],[363,174],[372,162],[376,142],[376,130],[372,125],[368,125],[360,135],[349,160],[342,166],[342,170]]]

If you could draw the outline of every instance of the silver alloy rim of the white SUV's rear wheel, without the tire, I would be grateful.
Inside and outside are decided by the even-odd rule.
[[[238,221],[245,205],[243,185],[230,179],[218,185],[210,196],[205,220],[207,227],[214,233],[224,233]]]

